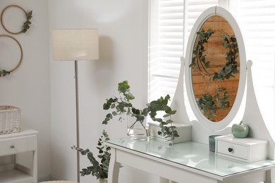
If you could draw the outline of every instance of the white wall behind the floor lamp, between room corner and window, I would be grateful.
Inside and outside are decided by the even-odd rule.
[[[117,94],[117,83],[130,82],[135,105],[147,103],[147,0],[49,0],[49,28],[98,28],[99,60],[79,61],[80,146],[97,151],[102,129],[111,138],[126,136],[126,124],[102,125],[102,105]],[[51,138],[53,177],[76,179],[74,63],[51,61]],[[89,165],[80,157],[80,167]],[[146,166],[146,165],[145,165]],[[91,176],[82,182],[96,182]],[[157,182],[157,177],[128,167],[120,182]]]

